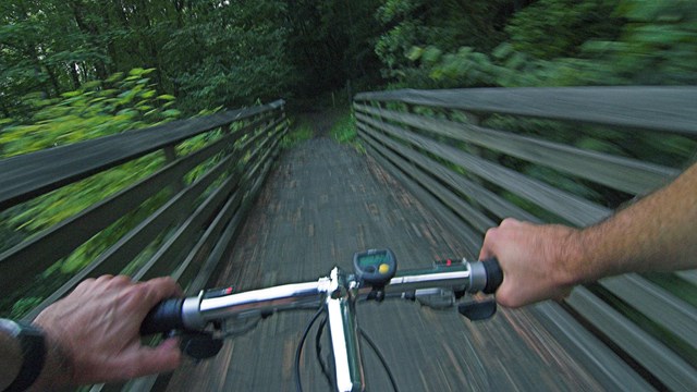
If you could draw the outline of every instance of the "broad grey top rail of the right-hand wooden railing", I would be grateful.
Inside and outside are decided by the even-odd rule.
[[[695,87],[473,88],[377,91],[356,101],[396,101],[477,114],[576,121],[619,128],[697,134]]]

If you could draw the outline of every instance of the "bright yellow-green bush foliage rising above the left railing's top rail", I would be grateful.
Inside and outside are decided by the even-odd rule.
[[[0,132],[0,157],[27,154],[95,137],[171,121],[179,111],[167,109],[172,96],[157,96],[147,77],[154,70],[134,69],[105,82],[84,84],[59,98],[28,95],[34,114],[9,122]]]

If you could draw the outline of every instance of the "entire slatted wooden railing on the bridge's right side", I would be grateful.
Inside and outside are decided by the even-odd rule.
[[[625,133],[627,143],[639,133],[661,133],[680,135],[694,147],[697,136],[694,87],[364,93],[355,97],[354,111],[369,155],[456,233],[470,258],[486,230],[505,217],[585,226],[615,207],[521,168],[552,169],[573,184],[626,200],[665,184],[687,164],[649,163],[554,142],[563,138],[562,126],[567,133],[570,124],[578,133],[584,127]],[[504,131],[505,124],[513,125]],[[563,304],[547,302],[531,310],[607,390],[690,391],[697,389],[695,286],[695,271],[660,280],[631,273],[577,287]]]

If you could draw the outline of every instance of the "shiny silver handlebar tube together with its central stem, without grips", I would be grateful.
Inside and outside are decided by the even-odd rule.
[[[447,270],[407,270],[384,286],[386,294],[431,287],[462,287],[478,292],[486,284],[486,271],[479,261],[462,262]],[[212,298],[188,297],[182,306],[184,326],[203,330],[210,321],[246,318],[281,309],[322,304],[328,313],[335,389],[340,392],[364,391],[365,373],[358,344],[355,305],[372,287],[359,287],[353,275],[332,269],[327,278],[316,282],[294,283],[274,287],[229,294]]]

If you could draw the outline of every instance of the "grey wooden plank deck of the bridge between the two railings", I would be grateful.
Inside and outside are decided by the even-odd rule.
[[[350,268],[357,249],[391,247],[403,268],[463,255],[418,201],[350,147],[317,137],[284,152],[218,277],[240,290],[314,280]],[[274,315],[225,343],[213,360],[186,364],[169,391],[294,391],[293,359],[310,313]],[[454,309],[412,303],[360,306],[362,328],[378,344],[401,391],[567,391],[600,387],[525,310],[472,323]],[[325,358],[327,348],[322,352]],[[367,350],[370,391],[391,391]],[[308,339],[307,391],[326,391]]]

